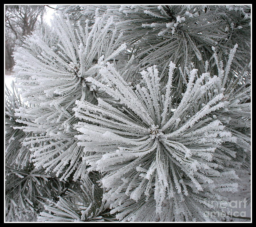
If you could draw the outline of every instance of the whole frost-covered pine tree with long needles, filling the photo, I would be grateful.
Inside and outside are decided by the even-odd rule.
[[[250,172],[250,12],[58,6],[14,54],[6,220],[230,220]]]

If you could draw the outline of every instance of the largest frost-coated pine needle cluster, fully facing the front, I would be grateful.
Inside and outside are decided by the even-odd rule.
[[[236,137],[226,130],[220,120],[206,118],[229,105],[228,101],[224,101],[224,94],[213,89],[220,86],[221,78],[211,77],[209,73],[198,76],[198,70],[192,69],[180,105],[173,114],[167,114],[172,113],[169,96],[175,68],[176,65],[170,62],[165,94],[161,95],[155,65],[141,72],[145,86],[137,85],[136,90],[132,90],[113,64],[107,63],[107,66],[101,66],[100,74],[108,81],[108,86],[93,78],[87,80],[123,107],[115,107],[98,99],[97,106],[76,101],[77,107],[73,109],[77,117],[90,122],[79,122],[75,126],[82,132],[77,136],[81,141],[79,144],[86,145],[86,141],[90,141],[94,150],[98,150],[95,156],[84,159],[90,165],[88,170],[106,173],[101,180],[108,189],[104,197],[113,200],[112,212],[121,212],[119,216],[126,217],[123,220],[136,220],[137,213],[132,208],[129,210],[129,206],[141,199],[145,201],[143,206],[154,205],[156,213],[161,216],[165,214],[165,209],[169,209],[164,205],[166,198],[172,204],[180,196],[182,201],[192,201],[195,198],[193,193],[199,191],[217,193],[236,190],[234,185],[227,184],[226,189],[218,186],[222,176],[234,178],[231,174],[221,174],[225,167],[218,160],[220,157],[229,158],[221,147],[226,141],[236,143]],[[208,95],[210,90],[215,93]],[[209,99],[205,100],[206,105],[201,105],[200,100],[205,99],[205,95]],[[197,112],[185,120],[182,116],[192,106]],[[133,177],[129,178],[131,174]],[[193,192],[187,186],[193,188]],[[203,197],[200,200],[204,201]],[[197,207],[196,203],[193,206]],[[127,207],[125,211],[123,207]],[[176,203],[175,210],[179,209],[188,212],[192,208]],[[178,216],[176,218],[179,220]],[[211,220],[209,216],[202,218]]]

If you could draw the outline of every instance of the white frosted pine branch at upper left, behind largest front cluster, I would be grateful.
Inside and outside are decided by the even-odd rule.
[[[42,133],[45,138],[33,138],[30,143],[41,143],[55,140],[50,144],[31,148],[35,166],[44,166],[47,170],[53,169],[59,176],[67,164],[69,168],[60,179],[66,180],[73,171],[74,179],[81,172],[82,163],[76,163],[84,155],[83,149],[77,146],[77,139],[73,130],[74,112],[77,99],[95,101],[92,90],[95,86],[86,85],[84,78],[97,75],[100,66],[106,64],[121,51],[126,44],[117,40],[121,34],[113,37],[105,47],[105,39],[113,25],[112,17],[96,17],[94,24],[89,28],[86,21],[85,28],[78,22],[75,31],[69,20],[64,20],[62,14],[54,16],[52,25],[60,42],[60,51],[55,52],[45,41],[36,34],[30,36],[29,41],[38,45],[42,53],[33,56],[29,51],[20,47],[15,53],[15,70],[25,80],[20,82],[24,101],[31,104],[29,109],[17,109],[17,116],[27,116],[36,124],[23,121],[27,126],[22,127],[26,132]],[[102,50],[104,55],[102,55]],[[101,56],[101,57],[100,57]],[[98,65],[94,63],[98,60]],[[97,80],[100,80],[97,77]],[[30,84],[28,87],[26,83]],[[38,106],[37,103],[40,103]],[[21,129],[21,128],[20,128]],[[29,143],[26,141],[26,143]],[[52,149],[50,155],[48,149]]]

